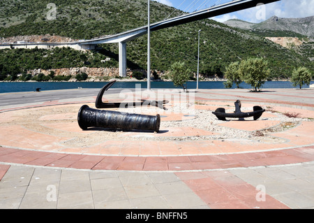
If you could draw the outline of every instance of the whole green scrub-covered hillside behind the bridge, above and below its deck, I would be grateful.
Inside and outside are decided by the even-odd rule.
[[[57,18],[47,20],[50,10],[47,4],[50,2],[2,0],[0,37],[54,34],[89,39],[147,24],[146,0],[56,0],[54,3],[57,6]],[[174,8],[151,1],[151,22],[165,19],[173,10]],[[172,16],[179,13],[181,12],[176,11]],[[292,69],[297,66],[314,70],[313,62],[293,50],[282,48],[250,31],[228,27],[213,20],[201,20],[152,32],[151,69],[167,71],[173,62],[182,61],[196,72],[199,29],[202,29],[200,72],[204,75],[216,73],[223,76],[227,64],[248,57],[267,59],[272,78],[289,78]],[[100,63],[105,57],[112,57],[110,66],[118,66],[118,45],[107,44],[99,47],[102,49],[99,48],[92,55],[89,52],[75,52],[70,49],[63,49],[61,54],[51,54],[49,50],[0,50],[0,74],[2,73],[3,77],[16,69],[23,72],[43,66],[105,66]],[[130,69],[146,69],[147,36],[128,42],[127,54]],[[34,60],[34,57],[37,59]]]

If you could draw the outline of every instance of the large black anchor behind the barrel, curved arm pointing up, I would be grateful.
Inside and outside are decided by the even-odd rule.
[[[103,102],[103,94],[107,89],[109,89],[116,80],[113,80],[107,85],[105,85],[102,89],[100,89],[100,92],[97,95],[95,107],[96,108],[127,108],[127,107],[135,107],[135,106],[156,106],[158,108],[162,108],[164,110],[167,110],[165,108],[164,104],[169,103],[169,101],[163,100],[163,101],[149,101],[142,99],[141,101],[130,101],[130,102]]]

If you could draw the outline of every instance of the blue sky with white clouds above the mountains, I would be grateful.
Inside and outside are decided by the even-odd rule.
[[[193,12],[232,0],[154,0],[187,12]],[[211,19],[225,22],[230,19],[239,19],[247,22],[263,22],[272,16],[278,17],[308,17],[314,15],[314,0],[281,0],[255,8],[228,13]]]

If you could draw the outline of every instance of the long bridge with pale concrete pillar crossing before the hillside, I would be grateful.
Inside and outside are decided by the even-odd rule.
[[[222,3],[218,6],[211,6],[210,8],[197,10],[193,13],[188,13],[186,15],[179,15],[178,17],[173,17],[166,19],[154,24],[150,24],[150,31],[157,31],[159,29],[165,29],[167,27],[174,27],[180,24],[186,24],[188,22],[195,22],[197,20],[203,20],[205,18],[214,17],[217,15],[223,15],[226,13],[232,13],[238,10],[244,10],[247,8],[253,8],[259,3],[272,3],[280,0],[230,0],[227,3]],[[91,50],[94,49],[97,44],[103,43],[118,43],[119,44],[119,75],[121,77],[126,76],[126,43],[132,41],[133,39],[147,34],[148,25],[144,27],[139,27],[137,29],[132,29],[129,31],[124,31],[121,34],[114,34],[111,36],[105,36],[102,38],[95,38],[91,40],[77,41],[71,43],[21,43],[21,45],[45,45],[47,48],[50,46],[66,46],[70,48],[75,48],[77,50]],[[18,44],[17,44],[18,45]],[[1,48],[1,45],[0,45]],[[39,46],[38,46],[39,48]]]

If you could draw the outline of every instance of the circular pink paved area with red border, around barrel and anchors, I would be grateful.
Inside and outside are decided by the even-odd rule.
[[[87,105],[94,108],[93,103]],[[252,110],[254,105],[242,103],[241,110]],[[271,162],[269,157],[276,164],[292,156],[297,156],[297,162],[314,159],[314,139],[309,134],[314,130],[314,111],[297,109],[289,113],[297,117],[287,117],[283,115],[286,108],[267,107],[259,120],[225,122],[212,111],[223,107],[233,112],[232,102],[172,101],[166,106],[168,110],[111,109],[160,114],[160,131],[156,133],[102,128],[82,131],[77,124],[81,106],[73,103],[1,113],[0,161],[14,162],[18,157],[17,163],[30,165],[181,171],[265,165]]]

